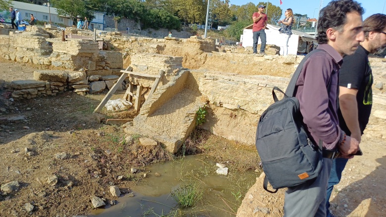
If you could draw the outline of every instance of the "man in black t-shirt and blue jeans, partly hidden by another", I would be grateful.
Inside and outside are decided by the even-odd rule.
[[[360,31],[360,30],[353,30]],[[360,43],[354,54],[345,56],[339,71],[339,127],[359,142],[369,122],[373,94],[373,75],[368,59],[369,53],[386,46],[386,15],[374,14],[363,22],[365,41]],[[327,187],[327,217],[334,217],[329,211],[330,196],[334,185],[338,184],[347,158],[333,160]]]

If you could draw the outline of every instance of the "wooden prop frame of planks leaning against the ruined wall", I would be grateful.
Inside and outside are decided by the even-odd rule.
[[[111,87],[111,89],[108,91],[106,96],[104,96],[102,101],[99,103],[97,108],[94,110],[93,114],[98,112],[98,111],[100,111],[103,108],[103,106],[107,103],[107,101],[111,98],[111,96],[118,89],[119,85],[122,85],[123,80],[125,80],[128,76],[132,77],[132,78],[139,78],[139,77],[155,78],[155,81],[154,81],[153,85],[151,86],[150,93],[147,96],[147,98],[149,99],[151,97],[151,95],[154,93],[155,89],[157,88],[157,86],[159,84],[159,81],[161,80],[162,76],[165,73],[163,70],[159,70],[158,75],[149,75],[149,74],[145,74],[145,73],[131,72],[132,70],[133,70],[133,68],[130,67],[130,66],[127,67],[126,70],[121,70],[121,72],[122,72],[121,77],[119,77],[117,83],[115,83],[114,86]],[[129,86],[126,89],[126,92],[125,92],[125,95],[124,95],[123,98],[126,101],[132,102],[133,101],[133,97],[134,97],[136,99],[136,102],[134,104],[134,109],[136,111],[138,111],[140,109],[140,106],[141,106],[141,94],[142,94],[143,87],[141,85],[138,85],[138,87],[137,87],[137,94],[133,93],[133,89],[134,89],[134,84],[129,82]]]

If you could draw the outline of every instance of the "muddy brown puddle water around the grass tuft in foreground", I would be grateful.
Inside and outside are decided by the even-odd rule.
[[[177,212],[184,217],[234,217],[247,189],[258,174],[229,171],[227,176],[216,174],[216,162],[203,155],[164,164],[153,164],[149,177],[132,186],[134,197],[121,196],[115,206],[97,209],[97,217],[161,217]],[[156,177],[154,173],[161,174]],[[193,208],[180,209],[170,192],[194,183],[203,192],[202,199]],[[170,215],[172,217],[174,215]]]

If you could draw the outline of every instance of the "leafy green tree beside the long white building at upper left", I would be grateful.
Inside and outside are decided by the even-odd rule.
[[[84,0],[51,0],[51,2],[59,16],[70,17],[74,24],[77,17],[87,17],[89,20],[95,18],[94,13],[87,10]]]

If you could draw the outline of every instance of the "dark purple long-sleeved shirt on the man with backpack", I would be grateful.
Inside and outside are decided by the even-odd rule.
[[[338,73],[343,60],[329,44],[320,44],[318,49],[326,52],[312,51],[296,82],[298,87],[295,96],[299,100],[300,112],[310,139],[315,144],[320,139],[323,147],[334,149],[341,134],[338,126],[337,93]]]

